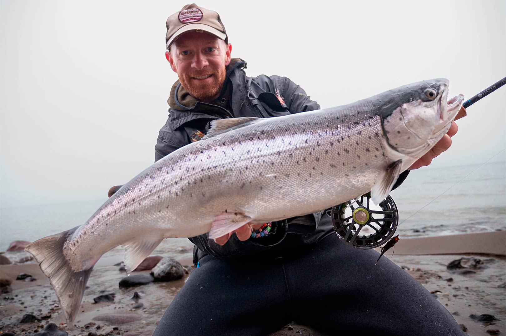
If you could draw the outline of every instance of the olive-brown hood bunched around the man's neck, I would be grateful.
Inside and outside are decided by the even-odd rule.
[[[229,91],[227,90],[229,87],[228,79],[232,71],[237,67],[241,67],[241,69],[246,68],[246,62],[240,58],[232,58],[230,60],[230,64],[225,68],[225,83],[220,97],[223,96],[225,92]],[[198,100],[192,97],[188,90],[181,85],[179,79],[172,86],[171,95],[167,99],[168,106],[176,110],[189,110],[194,108],[197,102]],[[208,109],[208,107],[206,109]]]

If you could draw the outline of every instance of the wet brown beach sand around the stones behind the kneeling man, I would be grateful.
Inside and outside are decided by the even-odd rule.
[[[191,243],[188,242],[190,247]],[[401,239],[396,245],[392,260],[422,283],[437,297],[450,313],[454,313],[457,323],[463,323],[470,335],[488,335],[487,329],[500,330],[506,334],[506,232],[485,232],[470,235],[454,235],[429,238]],[[164,253],[156,250],[156,255],[176,258],[182,265],[191,264],[191,249],[181,253]],[[483,263],[475,273],[451,271],[446,265],[453,260],[475,256]],[[391,253],[387,253],[390,258]],[[67,326],[49,280],[40,272],[37,264],[14,264],[0,267],[0,278],[12,281],[9,293],[0,298],[0,332],[12,331],[32,334],[40,331],[49,322],[54,322],[69,335],[124,334],[125,336],[150,336],[156,323],[172,302],[188,275],[181,280],[155,282],[133,288],[119,288],[118,282],[124,273],[118,271],[117,255],[106,255],[95,267],[85,291],[81,311],[74,322]],[[29,273],[37,280],[27,282],[15,280],[19,273]],[[149,273],[149,271],[135,272]],[[132,300],[134,292],[141,299]],[[114,293],[114,302],[94,304],[93,298]],[[138,303],[143,307],[134,308]],[[456,313],[455,313],[456,312]],[[19,323],[24,314],[33,314],[42,320],[33,323]],[[104,314],[129,314],[122,319],[99,321]],[[491,314],[498,318],[492,323],[475,322],[469,315]],[[117,316],[116,316],[117,317]],[[124,323],[123,323],[124,322]],[[322,333],[307,326],[292,323],[271,334],[314,335]]]

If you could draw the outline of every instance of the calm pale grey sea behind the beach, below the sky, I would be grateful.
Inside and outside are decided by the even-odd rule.
[[[506,162],[415,170],[391,196],[401,237],[505,230]],[[0,250],[13,240],[33,241],[81,225],[104,201],[0,209]],[[157,250],[181,246],[191,243],[165,239]]]

